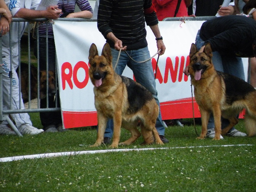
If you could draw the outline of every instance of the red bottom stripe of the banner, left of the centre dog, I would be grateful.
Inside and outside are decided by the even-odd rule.
[[[87,127],[97,125],[97,112],[62,111],[63,124],[67,128]]]

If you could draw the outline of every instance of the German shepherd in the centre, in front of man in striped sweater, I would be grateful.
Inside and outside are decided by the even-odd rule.
[[[103,142],[108,118],[114,121],[112,148],[118,147],[121,125],[131,132],[131,137],[119,145],[130,145],[141,134],[145,144],[152,144],[154,139],[157,144],[163,144],[155,127],[159,114],[155,99],[139,83],[115,73],[109,44],[104,45],[101,56],[98,55],[96,45],[92,44],[88,58],[98,118],[97,140],[91,147],[100,146]],[[141,134],[137,129],[139,122]]]

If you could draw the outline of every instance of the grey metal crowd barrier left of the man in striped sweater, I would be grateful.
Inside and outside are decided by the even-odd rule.
[[[97,21],[95,19],[82,19],[82,18],[60,18],[59,20],[68,20],[68,21],[85,21],[85,22],[88,22],[88,21]],[[12,22],[19,22],[19,26],[20,26],[20,22],[36,22],[36,25],[38,26],[38,23],[39,22],[49,22],[49,20],[45,19],[45,18],[42,18],[42,19],[31,19],[31,20],[27,20],[27,19],[22,19],[22,18],[12,18]],[[47,26],[47,25],[46,25]],[[23,102],[23,100],[21,99],[22,98],[22,95],[21,95],[21,73],[20,73],[20,62],[21,62],[21,58],[20,58],[20,52],[21,52],[21,46],[20,46],[20,41],[19,41],[19,67],[18,67],[18,71],[17,71],[17,74],[19,76],[19,106],[17,106],[18,109],[13,109],[13,106],[11,105],[11,99],[12,99],[12,83],[11,83],[11,86],[10,86],[10,109],[8,110],[4,110],[3,109],[3,66],[0,65],[0,123],[2,123],[3,120],[6,120],[8,122],[8,124],[12,127],[12,129],[14,130],[14,132],[21,136],[21,133],[19,132],[19,130],[17,129],[17,127],[15,126],[15,124],[12,122],[12,119],[10,118],[10,114],[18,114],[18,113],[36,113],[36,112],[52,112],[52,111],[60,111],[60,108],[57,107],[57,100],[59,98],[56,98],[55,99],[55,108],[49,108],[49,100],[48,100],[48,73],[47,74],[47,77],[46,77],[46,90],[47,90],[47,97],[46,97],[46,105],[47,107],[46,108],[40,108],[40,96],[39,96],[39,86],[40,86],[40,79],[39,79],[39,67],[37,67],[37,108],[31,108],[31,82],[30,82],[30,78],[31,78],[31,74],[30,74],[30,67],[31,67],[31,55],[30,55],[30,51],[31,51],[31,47],[30,47],[30,43],[31,43],[31,39],[30,39],[30,31],[31,31],[31,27],[30,25],[28,25],[28,108],[21,108],[21,102]],[[12,28],[11,28],[11,25],[10,25],[10,33],[12,33]],[[36,30],[36,34],[37,34],[37,37],[38,37],[38,28]],[[20,29],[17,31],[17,37],[18,39],[21,39],[21,36],[20,36]],[[11,37],[10,37],[11,38]],[[38,41],[38,38],[36,39],[37,41],[37,48],[38,48],[38,45],[39,45],[39,41]],[[10,41],[11,42],[11,41]],[[11,44],[10,44],[10,47],[11,47]],[[46,55],[46,70],[48,70],[48,31],[46,29],[46,52],[47,52],[47,55]],[[2,60],[2,37],[0,36],[0,63],[2,64],[3,63],[3,60]],[[39,55],[39,51],[37,49],[37,56]],[[38,58],[38,57],[37,57]],[[12,70],[12,49],[10,49],[10,69]],[[39,61],[37,60],[37,66],[39,66]],[[57,70],[55,70],[55,78],[56,80],[58,79],[57,78]],[[12,82],[12,71],[10,71],[9,73],[9,76],[10,76],[10,82]],[[57,89],[58,89],[58,86],[57,86],[57,81],[56,81],[56,84],[55,84],[55,87],[56,87],[56,92],[57,92]]]

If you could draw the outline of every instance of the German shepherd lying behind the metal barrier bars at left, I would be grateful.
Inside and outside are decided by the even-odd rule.
[[[16,70],[19,76],[19,68]],[[39,96],[40,99],[46,98],[46,78],[47,73],[45,70],[39,71]],[[20,63],[20,86],[21,96],[23,102],[28,102],[28,64]],[[53,71],[48,72],[48,95],[53,96],[56,93],[55,89],[55,73]],[[37,68],[30,65],[30,100],[37,98]]]

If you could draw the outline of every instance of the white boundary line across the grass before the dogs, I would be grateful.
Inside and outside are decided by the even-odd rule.
[[[209,146],[170,147],[170,148],[136,148],[136,149],[107,149],[107,150],[95,150],[95,151],[72,151],[72,152],[44,153],[44,154],[36,154],[36,155],[4,157],[4,158],[0,158],[0,162],[18,161],[23,159],[58,157],[58,156],[72,156],[72,155],[81,155],[81,154],[119,152],[119,151],[127,152],[127,151],[146,151],[146,150],[155,150],[155,149],[182,149],[182,148],[233,147],[233,146],[253,146],[253,145],[251,144],[209,145]]]

